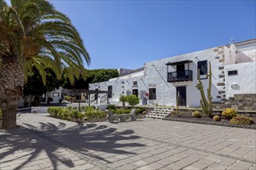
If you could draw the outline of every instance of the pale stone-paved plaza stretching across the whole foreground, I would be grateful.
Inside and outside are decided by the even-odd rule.
[[[21,114],[0,169],[256,169],[256,131],[143,119],[77,124]]]

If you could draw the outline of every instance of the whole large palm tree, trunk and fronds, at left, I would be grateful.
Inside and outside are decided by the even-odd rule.
[[[0,0],[0,106],[2,128],[16,127],[22,88],[36,66],[46,83],[45,66],[71,83],[85,76],[90,57],[70,19],[46,0]]]

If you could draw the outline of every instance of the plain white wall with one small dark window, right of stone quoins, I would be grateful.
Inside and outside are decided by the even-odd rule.
[[[256,93],[256,63],[230,64],[226,68],[227,98],[239,93]],[[237,75],[228,76],[230,70],[237,70]]]

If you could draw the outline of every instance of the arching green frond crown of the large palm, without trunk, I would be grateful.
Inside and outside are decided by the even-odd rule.
[[[47,66],[61,80],[62,73],[74,83],[85,77],[90,56],[78,30],[67,15],[47,0],[0,0],[0,64],[2,57],[16,57],[27,81],[36,66],[43,83]]]

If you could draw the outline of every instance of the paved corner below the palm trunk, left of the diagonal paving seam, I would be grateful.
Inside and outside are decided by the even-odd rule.
[[[0,135],[0,169],[70,169],[88,164],[77,155],[52,144],[34,133],[12,130]]]

